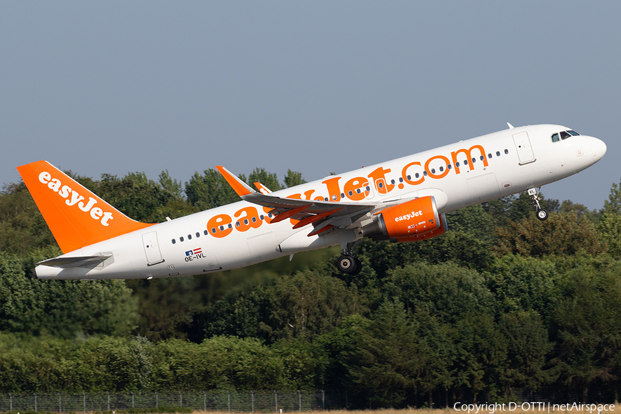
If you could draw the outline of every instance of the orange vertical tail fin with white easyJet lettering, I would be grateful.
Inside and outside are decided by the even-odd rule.
[[[152,226],[130,219],[48,161],[17,170],[63,253]]]

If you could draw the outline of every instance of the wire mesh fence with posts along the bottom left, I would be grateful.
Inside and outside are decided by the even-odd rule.
[[[336,410],[346,408],[347,393],[326,394],[324,391],[237,391],[219,393],[152,393],[66,394],[29,393],[0,394],[0,412],[46,411],[88,413],[126,410],[129,408],[188,407],[193,410],[255,411],[279,413],[292,411]]]

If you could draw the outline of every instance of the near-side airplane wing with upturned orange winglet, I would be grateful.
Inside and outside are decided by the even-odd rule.
[[[333,227],[345,228],[378,206],[383,206],[382,203],[292,199],[257,193],[223,166],[216,166],[216,168],[239,197],[250,203],[270,208],[269,213],[274,216],[270,222],[277,223],[289,218],[298,220],[293,228],[304,227],[312,223],[315,230],[309,236],[317,235]]]

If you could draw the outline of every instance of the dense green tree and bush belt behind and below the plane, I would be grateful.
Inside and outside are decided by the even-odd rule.
[[[141,221],[237,201],[215,170],[182,185],[75,176]],[[246,177],[244,176],[244,179]],[[248,175],[271,190],[263,168]],[[215,275],[32,278],[59,249],[26,187],[0,193],[0,390],[348,390],[382,406],[510,399],[519,389],[621,393],[621,190],[603,210],[506,197],[448,215],[427,242],[364,242]]]

